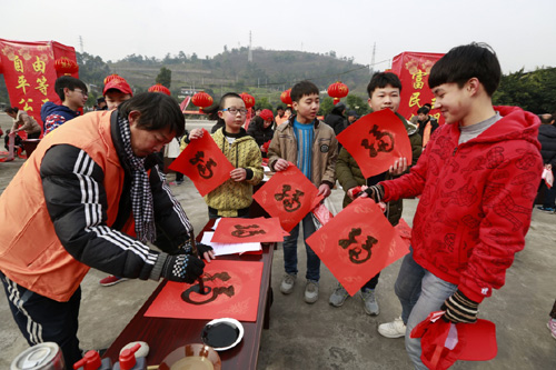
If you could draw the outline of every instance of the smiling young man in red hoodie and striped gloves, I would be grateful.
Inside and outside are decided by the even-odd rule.
[[[428,80],[447,124],[408,174],[366,189],[376,201],[420,196],[413,253],[396,282],[403,310],[410,312],[406,349],[416,369],[426,367],[413,328],[440,309],[447,321],[475,322],[479,303],[504,286],[506,269],[525,246],[543,170],[539,120],[516,107],[493,107],[500,76],[488,46],[451,49]],[[416,269],[423,279],[408,279]],[[419,284],[415,302],[410,292]]]

